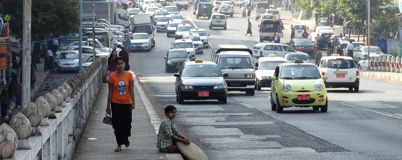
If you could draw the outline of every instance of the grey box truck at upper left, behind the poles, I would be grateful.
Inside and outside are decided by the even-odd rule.
[[[109,19],[109,2],[95,1],[96,18]],[[82,14],[92,14],[92,2],[82,2]],[[125,10],[117,9],[117,2],[110,2],[110,21],[112,24],[118,24],[130,27],[131,20],[129,14]]]

